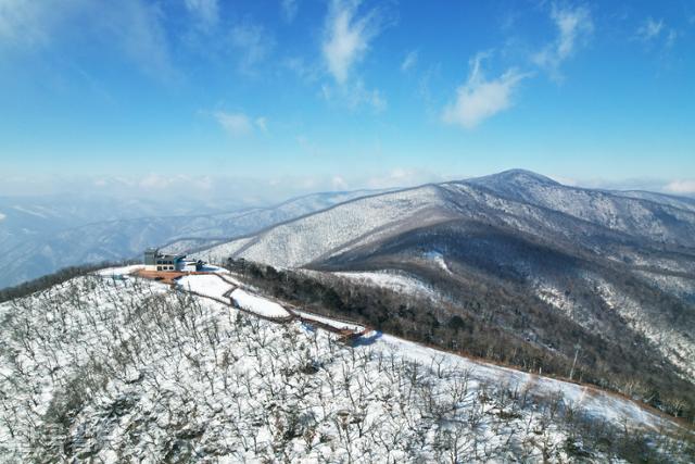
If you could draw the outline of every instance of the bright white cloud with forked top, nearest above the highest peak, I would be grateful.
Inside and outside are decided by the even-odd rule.
[[[513,93],[528,74],[510,68],[496,79],[488,80],[480,70],[484,54],[478,54],[471,60],[472,70],[468,80],[458,87],[456,100],[442,112],[444,123],[472,129],[513,105]]]

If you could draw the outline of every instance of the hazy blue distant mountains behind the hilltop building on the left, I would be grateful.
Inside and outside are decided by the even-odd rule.
[[[369,191],[316,193],[267,208],[114,198],[0,199],[0,288],[61,267],[139,256],[152,246],[184,251],[250,234]]]

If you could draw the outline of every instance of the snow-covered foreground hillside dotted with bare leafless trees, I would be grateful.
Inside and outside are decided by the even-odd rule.
[[[378,331],[346,343],[323,328],[343,322],[290,317],[291,305],[239,275],[188,276],[169,289],[130,271],[0,303],[0,461],[687,462],[693,453],[685,426],[593,387]]]

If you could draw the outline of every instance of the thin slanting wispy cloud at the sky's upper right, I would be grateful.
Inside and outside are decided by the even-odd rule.
[[[585,7],[560,9],[553,5],[551,18],[558,29],[557,38],[533,57],[533,62],[559,78],[559,66],[574,54],[594,32],[591,13]]]

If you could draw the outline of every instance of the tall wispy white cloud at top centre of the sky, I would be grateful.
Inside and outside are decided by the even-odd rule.
[[[379,22],[372,10],[356,16],[357,2],[333,0],[326,17],[323,53],[336,81],[346,81],[351,68],[359,62],[369,42],[379,34]]]

